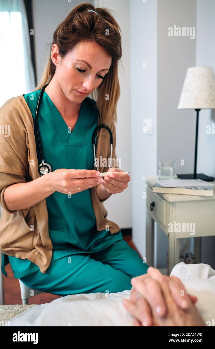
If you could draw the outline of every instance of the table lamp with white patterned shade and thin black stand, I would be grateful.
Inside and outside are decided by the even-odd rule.
[[[213,181],[214,177],[206,176],[204,173],[196,173],[197,169],[197,147],[199,111],[201,109],[215,108],[215,75],[213,67],[191,67],[187,69],[178,109],[195,109],[195,158],[194,173],[177,174],[182,179],[202,179]]]

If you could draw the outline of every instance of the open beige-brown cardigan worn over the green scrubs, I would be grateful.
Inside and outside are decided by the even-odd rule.
[[[101,121],[98,117],[98,125]],[[9,128],[8,128],[9,126]],[[2,129],[10,129],[10,134]],[[48,211],[46,200],[36,205],[10,211],[4,201],[6,188],[15,183],[25,183],[39,178],[36,141],[33,129],[33,118],[23,95],[10,98],[0,108],[0,205],[3,208],[0,220],[0,250],[6,255],[27,258],[35,263],[41,273],[45,273],[52,259],[52,242],[48,233]],[[112,123],[113,154],[116,158],[116,130]],[[4,134],[5,133],[5,134]],[[97,138],[96,157],[110,158],[110,142],[107,129]],[[34,161],[32,161],[32,159]],[[107,172],[108,167],[98,166],[100,172]],[[95,166],[93,168],[96,170]],[[97,230],[101,231],[109,225],[110,233],[114,234],[120,227],[109,221],[104,200],[99,200],[96,186],[90,188],[92,207],[95,213]],[[31,227],[34,230],[31,230]]]

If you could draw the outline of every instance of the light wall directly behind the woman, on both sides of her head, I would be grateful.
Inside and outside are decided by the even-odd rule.
[[[52,42],[53,32],[69,11],[84,1],[33,0],[33,23],[38,80],[45,68],[47,44]],[[94,1],[87,1],[95,3]],[[129,37],[129,0],[97,1],[96,7],[113,10],[113,15],[123,33],[123,57],[119,64],[121,97],[118,102],[116,125],[116,155],[121,158],[121,169],[131,172],[130,139],[130,37]],[[122,67],[121,67],[122,65]],[[108,218],[120,228],[131,228],[131,181],[122,193],[113,194],[104,205]]]

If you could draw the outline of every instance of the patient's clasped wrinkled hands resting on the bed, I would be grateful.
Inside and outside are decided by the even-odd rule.
[[[205,326],[180,279],[149,267],[147,274],[131,280],[131,300],[123,304],[134,326]]]

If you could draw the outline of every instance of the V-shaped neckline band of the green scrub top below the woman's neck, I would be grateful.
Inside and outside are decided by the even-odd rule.
[[[82,145],[87,127],[92,117],[92,108],[90,107],[90,103],[87,103],[85,99],[82,102],[78,119],[72,132],[68,132],[69,128],[66,122],[46,91],[44,91],[40,108],[46,114],[65,147],[80,147]]]

